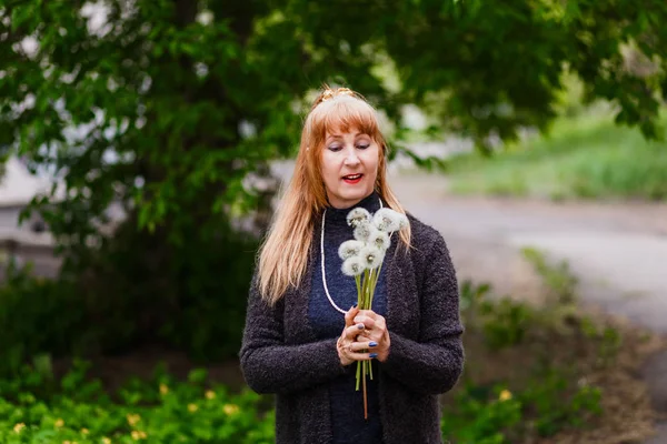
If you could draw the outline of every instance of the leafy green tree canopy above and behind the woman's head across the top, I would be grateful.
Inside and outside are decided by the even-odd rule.
[[[93,221],[112,201],[183,242],[192,219],[247,201],[247,174],[292,152],[305,97],[325,81],[350,83],[399,129],[400,105],[415,103],[484,144],[545,128],[569,72],[585,97],[619,104],[618,122],[657,135],[660,0],[97,4],[97,28],[88,7],[0,10],[0,140],[62,174],[64,201],[34,204],[68,245],[99,238]],[[19,44],[29,36],[38,50]]]

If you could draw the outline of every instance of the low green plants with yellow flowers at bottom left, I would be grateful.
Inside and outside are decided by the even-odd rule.
[[[275,414],[249,390],[231,394],[207,389],[206,372],[176,382],[163,372],[133,381],[113,401],[99,383],[87,382],[86,366],[68,374],[48,397],[28,387],[0,392],[3,443],[272,443]],[[31,377],[26,371],[26,379]],[[33,384],[36,385],[36,384]]]

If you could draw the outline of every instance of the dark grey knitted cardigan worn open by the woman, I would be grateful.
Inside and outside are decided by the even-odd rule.
[[[387,269],[385,317],[391,345],[374,376],[379,377],[385,444],[440,444],[438,394],[456,384],[464,366],[458,285],[440,233],[411,215],[409,221],[412,249],[396,252],[395,241],[387,252],[396,252]],[[241,371],[253,391],[277,394],[277,444],[329,444],[327,382],[356,369],[356,363],[340,364],[337,339],[317,340],[308,323],[317,254],[313,239],[301,285],[273,307],[260,297],[257,278],[248,299]]]

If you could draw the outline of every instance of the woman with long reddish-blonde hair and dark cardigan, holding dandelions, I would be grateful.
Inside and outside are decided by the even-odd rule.
[[[295,173],[260,250],[240,351],[258,393],[276,393],[281,444],[441,443],[438,394],[464,364],[455,270],[442,236],[408,214],[372,310],[360,311],[338,246],[352,208],[405,214],[387,183],[376,111],[326,89],[303,124]],[[355,390],[370,361],[368,418]]]

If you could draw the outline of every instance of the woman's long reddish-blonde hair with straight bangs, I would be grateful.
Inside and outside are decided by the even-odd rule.
[[[259,251],[259,291],[270,305],[302,280],[316,220],[328,205],[321,175],[321,150],[327,132],[348,132],[351,129],[370,135],[379,145],[375,191],[389,208],[405,214],[387,183],[387,143],[379,130],[376,110],[360,94],[347,88],[326,88],[306,118],[292,179]],[[399,234],[404,245],[409,246],[409,226]]]

